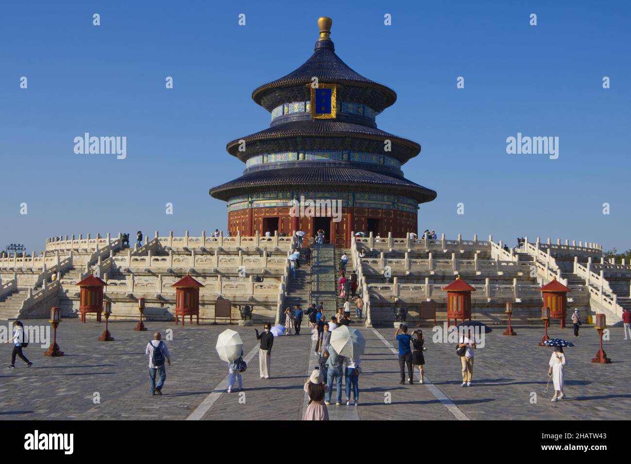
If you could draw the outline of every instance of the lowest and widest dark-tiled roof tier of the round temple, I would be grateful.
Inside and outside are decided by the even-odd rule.
[[[210,189],[210,195],[219,200],[261,189],[297,190],[357,190],[362,192],[389,192],[406,195],[419,203],[432,201],[436,192],[405,178],[391,177],[374,171],[352,167],[310,166],[245,173],[230,182]]]

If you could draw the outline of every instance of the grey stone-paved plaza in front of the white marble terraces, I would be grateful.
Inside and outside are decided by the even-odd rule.
[[[1,323],[6,325],[6,321]],[[47,325],[45,320],[25,323]],[[25,354],[35,364],[28,369],[20,359],[16,369],[6,369],[11,344],[0,345],[5,364],[0,372],[0,418],[302,419],[307,402],[302,387],[316,362],[308,328],[304,335],[274,341],[271,378],[262,380],[252,327],[175,327],[174,323],[149,321],[147,332],[135,332],[135,325],[110,323],[115,341],[98,342],[104,323],[63,320],[57,341],[66,356],[45,357],[44,348],[31,344]],[[215,350],[218,334],[227,327],[240,333],[249,360],[241,393],[225,393],[227,364]],[[173,337],[165,340],[172,365],[167,367],[163,396],[151,397],[144,348],[155,330],[165,337],[167,329]],[[584,326],[577,339],[571,328],[550,328],[551,337],[576,345],[565,350],[567,399],[557,403],[550,401],[551,383],[544,393],[551,349],[537,346],[543,327],[515,327],[515,337],[503,336],[504,327],[493,327],[485,347],[476,350],[473,385],[468,388],[460,386],[454,344],[428,343],[426,383],[399,385],[398,359],[392,348],[396,346],[394,329],[360,330],[366,339],[360,405],[330,405],[332,420],[628,419],[631,412],[627,360],[631,341],[623,340],[622,328],[610,329],[605,351],[613,363],[608,365],[590,362],[598,351],[598,333],[593,327]],[[423,333],[429,341],[431,328],[423,327]],[[531,399],[533,392],[536,403]],[[95,395],[100,403],[94,402]],[[342,397],[345,401],[345,393]]]

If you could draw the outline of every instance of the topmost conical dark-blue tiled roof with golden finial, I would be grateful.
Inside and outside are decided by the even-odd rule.
[[[270,111],[288,101],[309,100],[307,84],[316,77],[318,83],[341,84],[338,100],[364,103],[380,113],[396,101],[391,88],[371,81],[353,71],[335,54],[335,46],[329,37],[331,18],[320,18],[320,38],[315,42],[314,54],[295,71],[256,88],[252,100]]]

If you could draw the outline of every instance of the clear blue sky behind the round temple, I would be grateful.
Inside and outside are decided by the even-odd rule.
[[[252,90],[309,58],[317,18],[331,16],[339,57],[398,93],[379,127],[423,147],[403,166],[438,192],[420,229],[626,250],[630,13],[627,1],[3,2],[0,247],[226,229],[208,189],[244,165],[225,144],[268,127]],[[74,154],[84,132],[126,136],[127,158]],[[558,160],[507,154],[517,132],[558,136]]]

